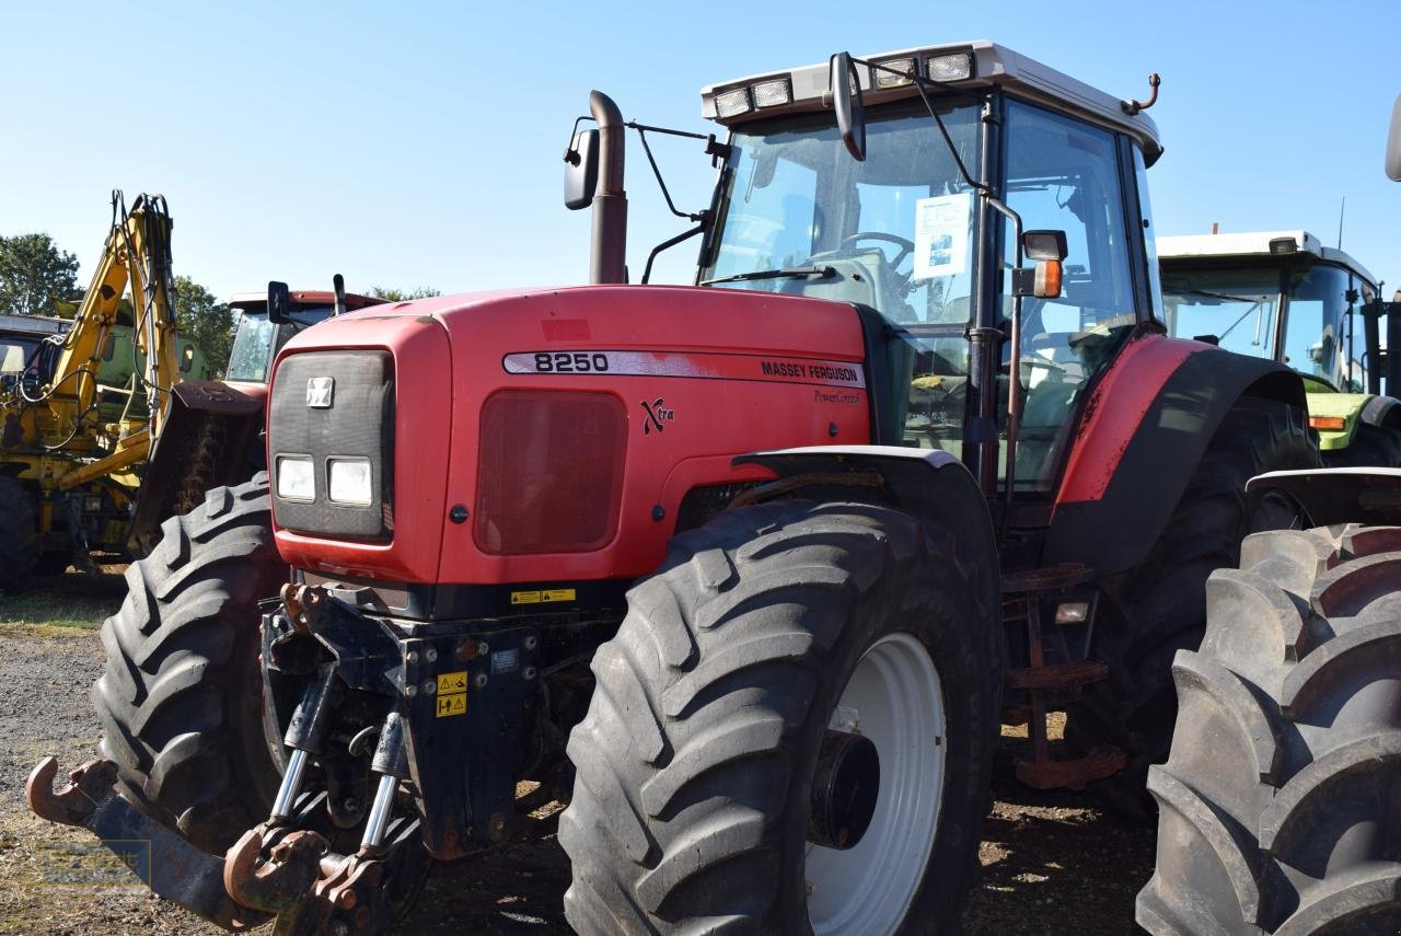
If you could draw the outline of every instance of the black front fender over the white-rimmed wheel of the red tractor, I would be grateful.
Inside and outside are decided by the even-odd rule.
[[[801,496],[815,500],[857,500],[897,507],[920,520],[939,518],[960,531],[981,556],[979,567],[998,569],[998,537],[972,472],[939,448],[902,446],[806,446],[757,451],[734,458],[734,465],[761,465],[785,479],[808,475]],[[842,483],[841,475],[852,475]],[[878,485],[870,483],[876,475]],[[996,574],[989,574],[996,601]],[[995,605],[988,605],[995,607]]]

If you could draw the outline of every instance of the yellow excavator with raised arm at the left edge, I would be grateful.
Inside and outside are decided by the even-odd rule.
[[[94,551],[125,551],[142,465],[193,353],[175,333],[170,244],[164,196],[140,195],[127,209],[113,192],[102,258],[71,328],[0,376],[0,591],[22,589],[36,570],[90,562]],[[125,385],[102,383],[113,353],[132,355]]]

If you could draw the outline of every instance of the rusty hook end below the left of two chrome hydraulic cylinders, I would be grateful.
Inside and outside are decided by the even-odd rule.
[[[268,914],[294,909],[321,877],[331,844],[310,830],[269,820],[244,832],[224,858],[224,888],[244,907]]]

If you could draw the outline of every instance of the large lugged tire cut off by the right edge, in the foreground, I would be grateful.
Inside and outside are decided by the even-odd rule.
[[[1173,666],[1152,933],[1401,932],[1401,528],[1251,537]]]

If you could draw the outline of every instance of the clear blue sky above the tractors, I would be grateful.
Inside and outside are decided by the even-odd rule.
[[[1381,171],[1401,3],[7,4],[0,234],[46,231],[83,279],[108,192],[163,192],[177,272],[216,294],[371,283],[581,282],[587,212],[560,156],[590,88],[709,132],[703,84],[988,38],[1118,97],[1163,90],[1164,234],[1304,227],[1401,284],[1401,185]],[[630,263],[679,230],[629,140]],[[713,171],[661,143],[682,206]],[[663,277],[689,279],[677,248]],[[636,275],[636,273],[635,273]],[[1390,289],[1387,290],[1391,291]]]

